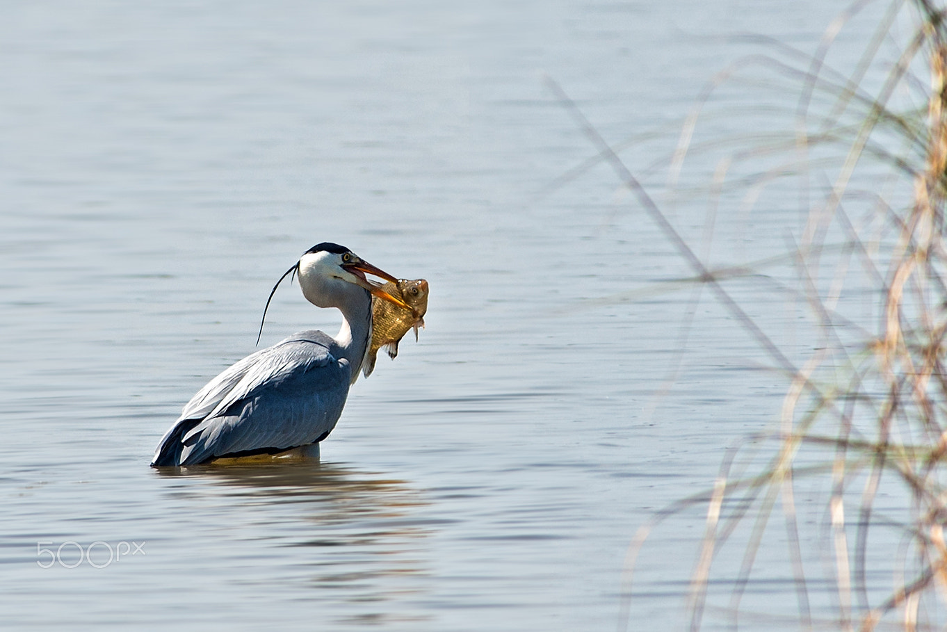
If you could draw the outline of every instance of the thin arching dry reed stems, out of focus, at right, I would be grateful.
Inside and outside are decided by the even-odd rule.
[[[800,187],[800,204],[808,208],[809,170],[821,164],[818,162],[821,158],[813,158],[813,148],[849,139],[824,203],[811,209],[800,244],[792,247],[803,290],[796,293],[787,289],[787,295],[805,300],[816,317],[816,323],[821,325],[820,335],[824,338],[819,340],[820,348],[801,368],[795,366],[724,290],[722,282],[729,274],[739,276],[747,274],[747,270],[752,272],[759,268],[735,267],[733,272],[710,269],[705,263],[706,249],[701,256],[691,250],[670,224],[666,213],[657,207],[622,163],[615,148],[582,116],[558,84],[546,81],[598,149],[598,156],[587,162],[604,161],[614,169],[622,184],[634,193],[693,270],[696,284],[693,298],[688,303],[688,322],[693,316],[692,308],[699,296],[699,288],[708,286],[731,316],[756,339],[778,370],[789,378],[778,433],[767,438],[777,441],[777,449],[766,469],[757,475],[738,472],[739,476],[734,476],[731,469],[740,469],[735,464],[737,456],[746,459],[742,467],[748,468],[750,459],[744,457],[742,447],[728,450],[721,473],[710,492],[672,504],[638,530],[624,567],[619,629],[628,623],[634,564],[646,539],[662,520],[698,503],[706,503],[705,533],[690,575],[687,595],[689,625],[692,630],[697,630],[706,612],[721,611],[721,608],[707,604],[707,589],[717,557],[731,536],[743,526],[748,531],[745,533],[742,563],[732,580],[730,603],[723,608],[736,628],[742,613],[742,597],[751,582],[757,553],[763,545],[777,499],[781,500],[785,518],[789,561],[799,602],[799,622],[811,628],[813,618],[809,611],[802,543],[796,522],[794,480],[800,476],[827,476],[831,480],[828,510],[831,575],[838,607],[835,627],[848,630],[857,625],[861,630],[875,630],[881,625],[892,624],[890,620],[885,623],[884,618],[897,610],[901,629],[926,629],[925,608],[931,607],[929,600],[933,599],[936,606],[947,603],[947,545],[943,535],[943,524],[947,522],[947,492],[943,489],[943,460],[947,457],[947,370],[942,361],[945,353],[943,339],[947,333],[947,248],[943,244],[947,198],[947,33],[941,9],[933,7],[930,0],[913,0],[912,6],[920,12],[921,27],[884,76],[877,94],[869,96],[864,92],[863,81],[904,5],[901,0],[890,3],[850,76],[835,73],[825,63],[826,55],[842,28],[869,2],[857,0],[832,23],[804,71],[754,55],[718,73],[701,92],[670,156],[668,183],[673,188],[680,180],[688,153],[695,151],[694,133],[711,94],[724,81],[737,77],[742,69],[770,66],[786,77],[801,79],[803,89],[796,105],[795,134],[791,145],[795,148],[795,158],[752,177],[741,176],[730,183],[725,178],[732,168],[759,158],[763,152],[735,153],[718,160],[705,226],[707,245],[713,233],[710,218],[715,217],[716,205],[726,186],[747,186],[741,206],[753,208],[770,184],[794,173],[803,185]],[[797,53],[788,46],[783,46],[783,49]],[[926,63],[930,70],[929,98],[926,119],[922,125],[915,125],[911,119],[890,111],[888,103],[898,89],[910,83],[911,65],[921,51],[927,53]],[[817,131],[810,134],[808,119],[813,116],[811,108],[816,91],[826,91],[835,99],[829,114],[819,121]],[[860,120],[855,124],[843,121],[844,116],[852,116],[850,111],[855,107],[865,108],[858,115]],[[904,150],[913,153],[902,157],[878,145],[875,135],[883,126],[901,135]],[[715,146],[719,147],[719,143],[706,143],[700,149],[703,151]],[[864,226],[856,227],[843,208],[843,202],[847,196],[859,193],[852,190],[852,182],[856,169],[866,156],[887,162],[900,177],[909,174],[912,201],[903,208],[893,208],[885,200],[884,193],[875,192],[870,208],[872,215],[867,221],[863,220]],[[893,177],[894,173],[892,181]],[[876,234],[866,237],[872,224]],[[829,291],[822,296],[816,289],[816,280],[823,278],[819,273],[821,258],[832,252],[833,245],[838,246],[827,243],[831,227],[841,228],[848,243],[842,244],[838,250],[840,256],[835,262]],[[893,245],[884,242],[885,233],[896,235]],[[861,262],[881,298],[877,306],[881,311],[877,335],[868,334],[835,311],[844,296],[849,269],[857,267],[853,265],[855,261]],[[885,267],[887,273],[883,274],[881,270]],[[863,352],[850,352],[849,346],[835,331],[840,324],[849,332],[864,335]],[[837,387],[819,384],[819,371],[826,370],[826,361],[834,358],[844,360],[846,370],[850,371],[848,383]],[[676,369],[671,374],[674,373]],[[808,399],[804,401],[803,395],[808,395]],[[804,404],[808,404],[808,409],[803,409]],[[821,432],[821,427],[816,425],[827,418],[837,424],[833,434]],[[820,431],[816,432],[816,428]],[[831,449],[834,454],[826,463],[799,466],[795,461],[803,446]],[[863,479],[864,487],[857,504],[858,519],[851,522],[847,520],[847,502],[852,502],[854,497],[854,483]],[[888,480],[900,481],[913,501],[910,515],[900,523],[905,533],[910,534],[912,547],[918,556],[908,571],[915,573],[913,579],[902,578],[899,587],[884,602],[872,606],[866,579],[868,533],[884,524],[886,519],[884,515],[881,518],[876,516],[876,503],[883,481]],[[747,526],[750,517],[753,518],[752,525]],[[852,531],[856,533],[854,551],[849,550]],[[937,615],[936,607],[934,611]]]

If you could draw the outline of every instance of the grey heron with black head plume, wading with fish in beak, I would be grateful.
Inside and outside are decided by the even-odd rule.
[[[313,245],[277,281],[271,299],[290,274],[298,275],[313,305],[342,312],[339,333],[299,332],[223,370],[184,406],[158,443],[152,466],[317,448],[329,436],[368,350],[371,295],[408,306],[366,280],[366,274],[395,277],[339,244]]]

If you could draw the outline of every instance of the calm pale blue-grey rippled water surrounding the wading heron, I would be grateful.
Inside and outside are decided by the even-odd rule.
[[[659,194],[648,168],[673,124],[748,50],[712,36],[811,50],[834,10],[4,9],[3,622],[612,629],[634,530],[772,424],[783,385],[706,300],[676,387],[655,398],[689,292],[594,301],[688,269],[607,168],[554,186],[594,152],[542,78],[615,142],[666,129],[623,153]],[[674,217],[699,239],[693,208]],[[718,218],[730,235],[741,221]],[[736,261],[772,245],[733,239]],[[420,342],[355,385],[321,462],[148,467],[191,394],[253,351],[273,282],[321,241],[430,281]],[[337,315],[284,286],[262,342],[313,327],[334,334]],[[655,540],[634,621],[676,621],[701,533],[671,521]],[[95,566],[79,563],[97,542]],[[108,563],[120,543],[142,550]],[[62,563],[40,568],[38,547]]]

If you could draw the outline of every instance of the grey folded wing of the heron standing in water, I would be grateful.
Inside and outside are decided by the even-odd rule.
[[[186,465],[320,441],[342,414],[350,374],[348,361],[336,359],[316,336],[288,338],[253,353],[191,398],[154,463],[170,464],[164,454]]]

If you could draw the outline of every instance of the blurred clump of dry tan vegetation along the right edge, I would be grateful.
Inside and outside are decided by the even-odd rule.
[[[712,489],[674,503],[636,534],[621,629],[634,609],[635,564],[647,538],[670,517],[698,511],[705,535],[688,580],[691,629],[947,627],[947,12],[927,0],[884,5],[857,63],[831,67],[836,38],[867,6],[879,3],[851,4],[814,53],[759,38],[768,52],[706,86],[668,161],[671,187],[693,195],[680,185],[688,156],[720,156],[709,188],[699,189],[709,190],[714,208],[733,204],[733,190],[744,191],[739,203],[748,206],[766,190],[795,191],[804,213],[782,256],[795,274],[783,291],[813,322],[801,360],[727,289],[761,262],[706,263],[548,81],[599,159],[688,262],[692,282],[742,323],[788,385],[777,428],[734,446]],[[895,59],[880,52],[892,45]],[[750,148],[737,147],[742,138],[696,141],[712,95],[734,81],[792,96],[789,129]],[[852,316],[850,307],[866,300],[870,309]],[[801,512],[800,497],[816,499],[817,508]],[[754,591],[772,579],[774,565],[795,593],[792,616],[773,607],[785,601],[777,589]]]

